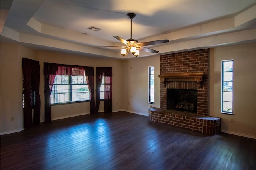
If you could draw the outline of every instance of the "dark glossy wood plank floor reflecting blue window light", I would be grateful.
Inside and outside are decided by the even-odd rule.
[[[256,140],[207,136],[127,112],[41,123],[1,136],[1,170],[253,170]]]

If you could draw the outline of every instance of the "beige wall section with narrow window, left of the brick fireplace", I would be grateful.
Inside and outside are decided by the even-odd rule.
[[[123,109],[148,116],[148,109],[160,107],[160,56],[123,61]],[[154,104],[148,103],[148,67],[154,66]]]

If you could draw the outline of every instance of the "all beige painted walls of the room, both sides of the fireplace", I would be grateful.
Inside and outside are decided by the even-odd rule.
[[[209,114],[222,118],[222,132],[256,138],[256,43],[210,49]],[[160,56],[127,60],[99,59],[67,53],[35,51],[21,45],[1,42],[1,134],[23,129],[22,57],[40,62],[41,120],[44,120],[43,63],[61,63],[113,69],[113,111],[148,115],[148,108],[160,107]],[[234,115],[220,113],[221,60],[234,59]],[[148,66],[155,68],[155,100],[148,101]],[[95,80],[94,80],[95,86]],[[95,87],[94,87],[95,90]],[[104,111],[103,102],[100,111]],[[52,106],[52,119],[90,113],[89,102]],[[14,117],[14,122],[10,117]],[[235,118],[235,123],[230,119]],[[147,118],[146,118],[147,119]]]

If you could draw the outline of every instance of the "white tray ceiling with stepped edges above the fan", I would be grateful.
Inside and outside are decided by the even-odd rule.
[[[1,0],[1,14],[7,2]],[[123,59],[118,47],[94,46],[122,45],[112,35],[129,39],[129,12],[136,13],[132,38],[139,42],[170,41],[147,46],[158,50],[157,55],[256,40],[255,0],[14,0],[5,22],[1,17],[1,41]],[[88,30],[90,26],[102,30]],[[156,54],[142,51],[139,57],[151,55]],[[125,58],[129,57],[133,55]]]

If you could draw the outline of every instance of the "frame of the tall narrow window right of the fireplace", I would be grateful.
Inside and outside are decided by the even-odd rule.
[[[232,61],[232,71],[224,71],[224,63]],[[222,60],[221,61],[221,112],[224,114],[234,115],[233,106],[234,106],[234,60]],[[224,81],[224,73],[232,73],[232,81]],[[226,88],[229,88],[232,84],[232,91],[225,90],[224,84],[228,84]],[[232,101],[224,101],[224,92],[232,93]],[[232,103],[231,111],[224,110],[224,102]]]

